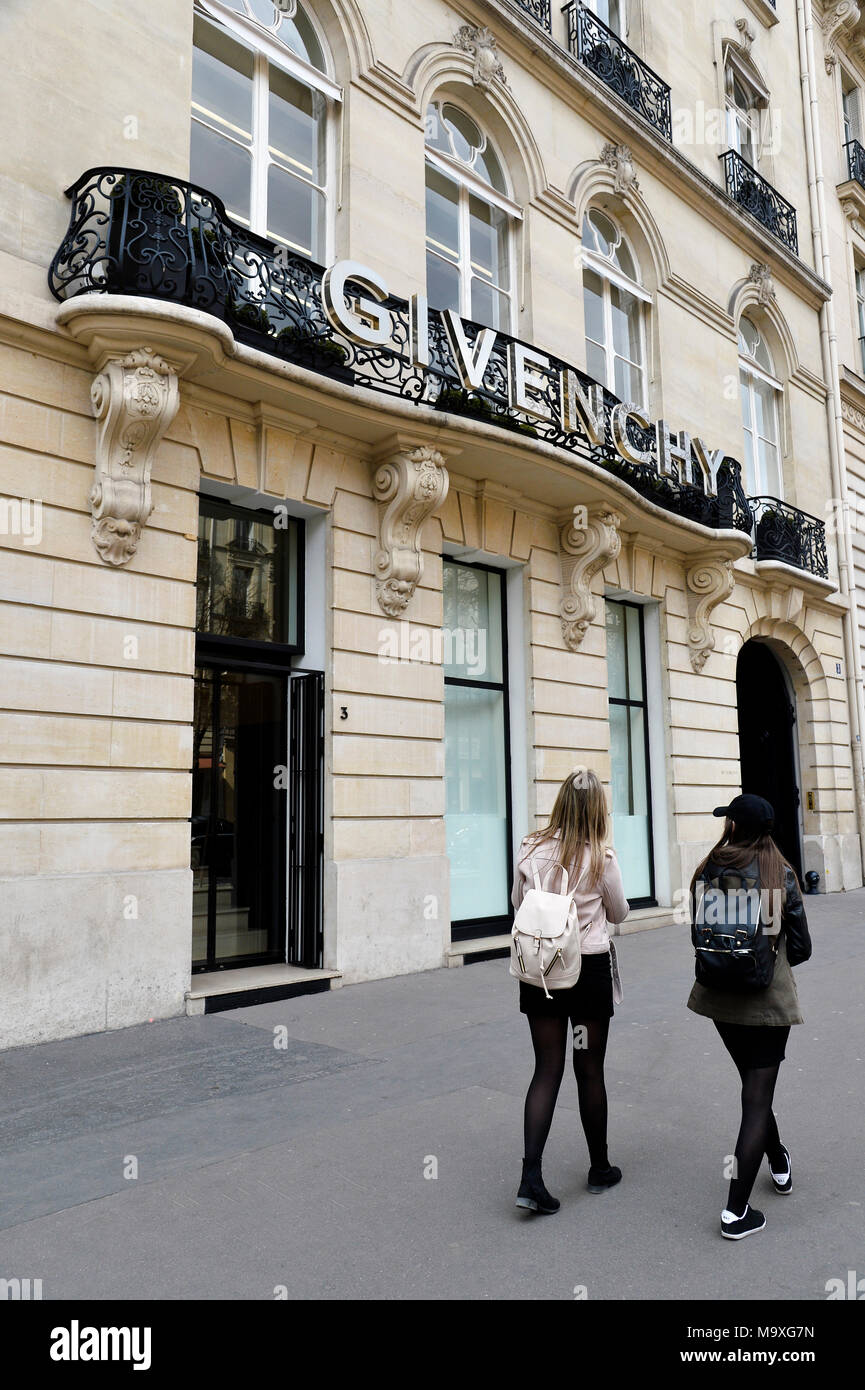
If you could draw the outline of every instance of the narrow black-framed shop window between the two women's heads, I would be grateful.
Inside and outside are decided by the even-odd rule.
[[[642,606],[606,599],[613,842],[633,908],[655,906]]]

